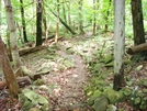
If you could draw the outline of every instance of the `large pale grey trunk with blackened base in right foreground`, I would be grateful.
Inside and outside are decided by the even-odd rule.
[[[114,90],[124,85],[125,0],[114,0]]]

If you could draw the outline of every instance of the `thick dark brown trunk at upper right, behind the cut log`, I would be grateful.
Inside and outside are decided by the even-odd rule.
[[[145,43],[142,0],[132,0],[134,44]]]

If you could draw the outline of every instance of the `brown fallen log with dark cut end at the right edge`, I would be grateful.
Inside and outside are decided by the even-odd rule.
[[[147,51],[147,43],[143,43],[143,44],[129,47],[126,53],[129,55],[133,55],[135,53],[145,52],[145,51]]]

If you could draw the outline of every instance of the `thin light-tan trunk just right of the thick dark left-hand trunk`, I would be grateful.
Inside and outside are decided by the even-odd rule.
[[[59,0],[57,0],[57,23],[56,23],[55,43],[57,43],[58,36],[59,36]]]

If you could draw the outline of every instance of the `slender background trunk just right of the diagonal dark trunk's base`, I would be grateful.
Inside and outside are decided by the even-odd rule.
[[[83,34],[83,23],[82,23],[82,2],[83,0],[79,0],[79,33]]]

